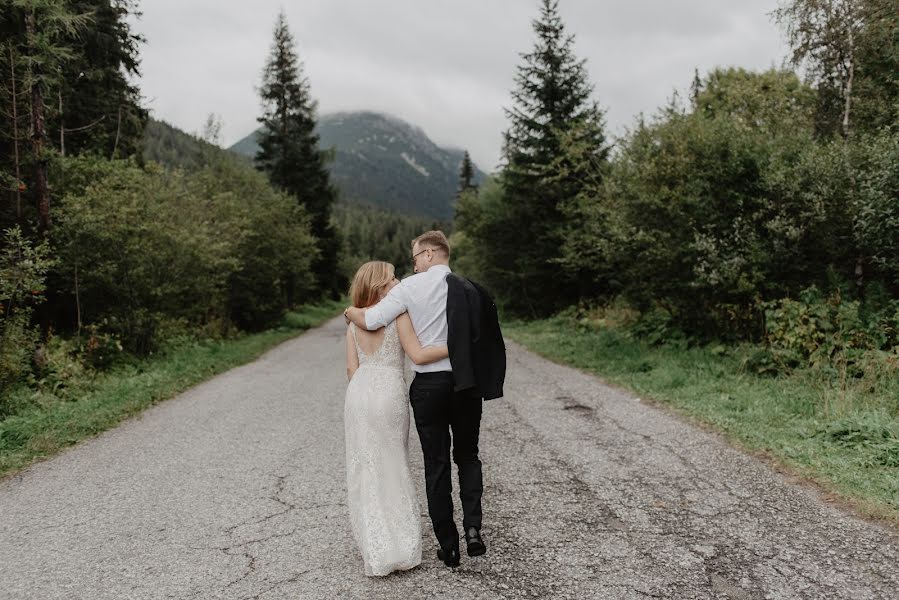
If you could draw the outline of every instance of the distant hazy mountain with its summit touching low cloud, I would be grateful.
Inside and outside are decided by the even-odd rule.
[[[331,180],[347,204],[452,219],[462,150],[437,146],[419,127],[374,112],[319,118],[321,148],[333,148]],[[253,157],[258,130],[229,149]],[[484,173],[475,168],[476,183]]]

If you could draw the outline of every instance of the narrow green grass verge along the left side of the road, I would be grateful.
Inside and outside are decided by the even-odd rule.
[[[340,314],[346,301],[288,313],[272,330],[236,339],[180,344],[146,360],[73,381],[63,398],[20,388],[22,408],[0,421],[0,477],[58,453]],[[60,394],[62,396],[62,394]],[[66,399],[74,398],[74,399]]]

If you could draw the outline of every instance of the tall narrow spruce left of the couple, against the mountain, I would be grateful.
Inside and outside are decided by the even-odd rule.
[[[313,272],[320,291],[336,296],[344,285],[337,269],[340,240],[331,222],[337,192],[326,168],[330,153],[318,147],[316,102],[310,95],[295,45],[282,11],[259,88],[262,116],[258,121],[262,129],[256,166],[268,174],[276,187],[306,207],[320,251]]]

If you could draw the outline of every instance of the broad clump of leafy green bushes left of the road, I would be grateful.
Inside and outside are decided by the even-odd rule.
[[[306,212],[245,165],[188,175],[81,157],[61,170],[73,192],[56,216],[53,281],[66,321],[89,327],[93,366],[119,345],[158,350],[176,321],[207,334],[262,329],[314,288]]]

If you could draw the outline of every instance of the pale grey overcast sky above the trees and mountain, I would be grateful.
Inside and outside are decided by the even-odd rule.
[[[653,114],[694,68],[780,66],[777,0],[561,0],[610,132]],[[321,114],[368,109],[499,161],[503,107],[538,0],[141,0],[141,89],[154,117],[191,132],[209,113],[224,145],[256,127],[256,87],[284,8]]]

